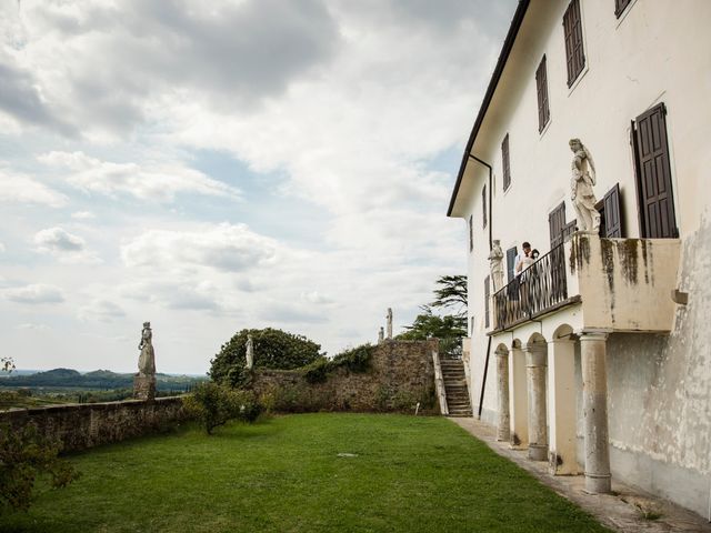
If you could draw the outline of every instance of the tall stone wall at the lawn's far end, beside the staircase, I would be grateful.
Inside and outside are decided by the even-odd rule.
[[[300,371],[254,372],[250,388],[276,411],[439,413],[432,351],[438,341],[385,341],[365,373],[338,369],[323,383],[309,383]]]

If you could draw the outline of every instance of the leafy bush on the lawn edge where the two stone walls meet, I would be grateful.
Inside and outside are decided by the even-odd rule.
[[[200,421],[208,435],[230,420],[252,423],[263,412],[263,406],[248,391],[238,391],[224,383],[200,383],[193,393],[183,399],[190,416]]]

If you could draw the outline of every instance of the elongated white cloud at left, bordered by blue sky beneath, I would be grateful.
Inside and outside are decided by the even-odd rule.
[[[71,171],[69,184],[84,192],[113,197],[128,194],[143,201],[169,202],[178,193],[237,198],[239,191],[202,172],[172,164],[112,163],[83,152],[52,151],[39,160]]]

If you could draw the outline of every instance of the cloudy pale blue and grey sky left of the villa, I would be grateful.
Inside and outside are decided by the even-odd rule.
[[[464,273],[447,207],[514,0],[0,0],[0,338],[18,368],[339,351]],[[258,354],[257,354],[258,355]]]

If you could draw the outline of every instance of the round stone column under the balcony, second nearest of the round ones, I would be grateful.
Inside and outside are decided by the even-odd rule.
[[[545,342],[525,346],[525,370],[529,391],[529,459],[548,460],[545,428]]]

